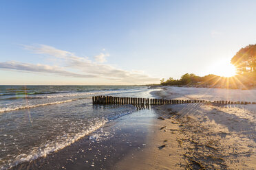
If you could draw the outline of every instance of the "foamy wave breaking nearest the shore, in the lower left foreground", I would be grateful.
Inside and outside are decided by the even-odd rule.
[[[96,121],[94,125],[89,126],[87,130],[83,130],[83,132],[78,132],[72,137],[68,137],[67,135],[57,136],[56,141],[50,141],[47,144],[43,145],[43,147],[36,148],[33,151],[30,151],[30,153],[32,154],[20,154],[19,156],[16,157],[15,160],[12,161],[12,163],[9,163],[8,165],[3,165],[3,167],[0,167],[0,169],[10,169],[11,167],[19,165],[21,162],[30,162],[37,158],[47,156],[48,154],[54,151],[58,151],[60,149],[63,149],[64,147],[71,145],[72,143],[78,141],[80,138],[83,138],[89,133],[98,130],[106,123],[107,120],[100,119]],[[58,138],[61,138],[62,140],[58,140]]]

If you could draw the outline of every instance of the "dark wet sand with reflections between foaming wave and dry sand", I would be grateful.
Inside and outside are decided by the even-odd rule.
[[[147,147],[154,120],[153,109],[138,110],[107,123],[60,151],[12,169],[120,169],[120,160]]]

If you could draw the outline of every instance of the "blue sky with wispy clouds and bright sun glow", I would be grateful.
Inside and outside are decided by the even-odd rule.
[[[0,1],[0,84],[225,75],[256,43],[256,1]]]

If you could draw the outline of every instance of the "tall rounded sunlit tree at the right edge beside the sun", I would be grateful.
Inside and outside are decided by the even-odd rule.
[[[240,49],[231,59],[239,73],[252,73],[256,71],[256,44],[247,45]]]

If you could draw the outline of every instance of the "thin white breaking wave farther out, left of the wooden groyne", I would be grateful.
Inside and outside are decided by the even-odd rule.
[[[78,100],[78,99],[69,99],[69,100],[64,100],[64,101],[55,101],[55,102],[51,102],[51,103],[47,103],[47,104],[17,106],[15,108],[0,108],[0,112],[10,112],[10,111],[26,109],[26,108],[36,108],[36,107],[39,107],[39,106],[47,106],[47,105],[53,105],[53,104],[63,104],[63,103],[66,103],[66,102],[76,101],[76,100]]]

